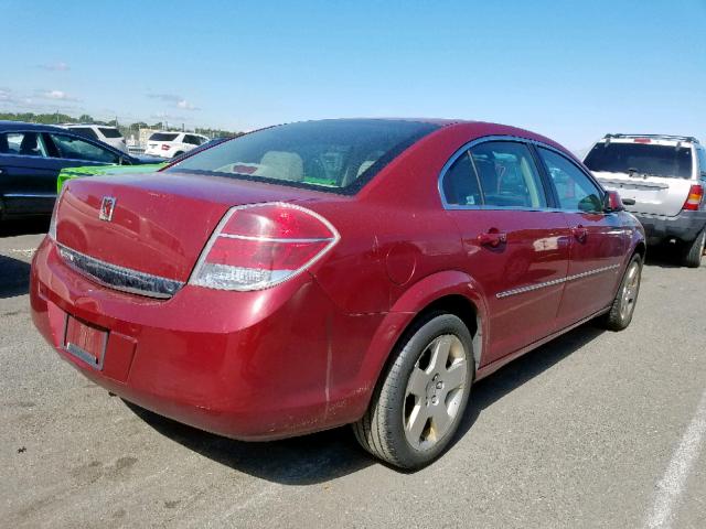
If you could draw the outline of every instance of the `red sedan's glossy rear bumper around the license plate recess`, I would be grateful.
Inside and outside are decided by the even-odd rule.
[[[35,326],[83,375],[128,401],[202,430],[267,440],[352,422],[368,395],[331,412],[331,350],[371,339],[330,331],[336,313],[308,274],[259,292],[184,287],[160,301],[90,282],[45,239],[31,272]],[[67,315],[108,332],[100,369],[64,347]],[[338,321],[338,322],[336,322]]]

